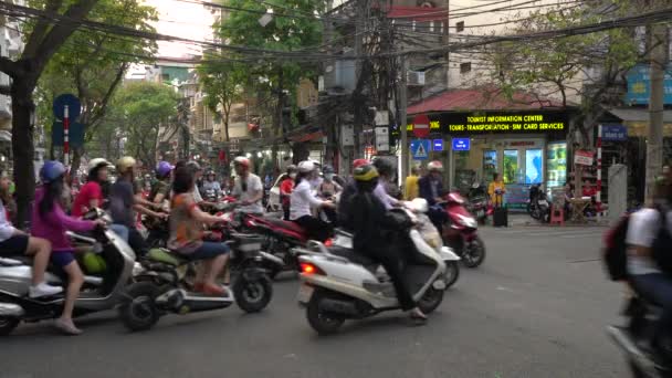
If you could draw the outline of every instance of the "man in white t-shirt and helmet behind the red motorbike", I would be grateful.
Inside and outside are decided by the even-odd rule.
[[[240,212],[261,214],[264,212],[261,204],[264,197],[264,187],[259,176],[250,171],[250,159],[246,157],[239,156],[233,159],[233,169],[237,177],[232,195],[240,201]]]

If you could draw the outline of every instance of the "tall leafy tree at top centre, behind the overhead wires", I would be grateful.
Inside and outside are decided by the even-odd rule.
[[[262,3],[254,0],[225,0],[224,4],[234,9],[242,9],[230,11],[227,18],[214,25],[221,40],[232,45],[300,52],[307,48],[314,48],[322,39],[322,22],[318,18],[311,17],[311,14],[323,13],[325,4],[323,1],[283,0],[282,2],[266,1]],[[271,18],[271,20],[262,25],[260,14],[256,12],[266,12],[269,9],[279,12],[274,12],[272,17],[264,15]],[[281,12],[287,15],[283,15]],[[254,92],[259,93],[259,97],[264,97],[265,94],[270,93],[275,98],[275,107],[272,114],[273,161],[275,162],[277,160],[277,138],[282,124],[282,111],[287,106],[295,108],[298,83],[302,78],[313,75],[315,63],[300,63],[296,59],[291,61],[277,55],[262,55],[249,60],[249,63],[242,67],[245,75],[251,80],[249,84],[254,86],[256,90]],[[246,92],[253,93],[253,91]],[[261,98],[258,103],[261,103]],[[294,112],[293,118],[295,117]]]

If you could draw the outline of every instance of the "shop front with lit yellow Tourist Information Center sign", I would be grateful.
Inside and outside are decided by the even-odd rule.
[[[451,112],[429,117],[449,149],[449,185],[464,195],[476,182],[487,187],[500,174],[507,207],[525,210],[533,185],[552,192],[567,179],[566,112]]]

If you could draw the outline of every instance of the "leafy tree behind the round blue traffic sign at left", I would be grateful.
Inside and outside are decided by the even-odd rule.
[[[154,32],[148,23],[156,21],[156,10],[138,0],[101,0],[88,20],[106,24]],[[78,123],[84,126],[85,144],[90,144],[107,111],[114,91],[122,83],[128,66],[156,51],[154,41],[127,39],[103,33],[77,30],[49,62],[39,82],[42,92],[38,102],[39,118],[53,122],[53,98],[62,93],[73,93],[82,102]],[[85,151],[84,146],[73,148],[71,169],[76,171]]]

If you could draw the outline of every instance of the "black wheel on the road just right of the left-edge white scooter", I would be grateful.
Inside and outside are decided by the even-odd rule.
[[[132,332],[147,330],[159,321],[156,297],[160,290],[154,283],[141,281],[128,286],[126,298],[119,306],[119,319]]]

